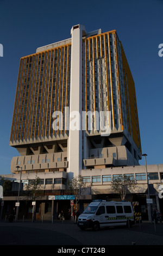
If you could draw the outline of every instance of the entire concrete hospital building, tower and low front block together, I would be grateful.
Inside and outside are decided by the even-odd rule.
[[[124,174],[137,182],[128,193],[131,201],[146,205],[150,179],[159,206],[162,165],[149,167],[148,175],[139,165],[135,84],[115,30],[87,33],[83,25],[73,26],[70,39],[20,59],[9,144],[20,155],[12,158],[8,176],[20,181],[21,171],[24,190],[27,182],[40,178],[37,219],[57,218],[61,209],[68,210],[70,200],[51,196],[68,195],[68,179],[79,174],[87,187],[80,211],[92,199],[118,200],[111,180]],[[22,209],[27,208],[24,198],[22,193]],[[4,200],[7,209],[16,196]]]

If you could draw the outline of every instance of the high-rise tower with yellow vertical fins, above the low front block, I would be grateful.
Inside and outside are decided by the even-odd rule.
[[[74,111],[84,128],[71,129]],[[105,125],[109,113],[108,136],[98,125],[100,112]],[[83,113],[92,113],[92,119]],[[70,39],[21,58],[9,144],[20,153],[11,161],[13,173],[17,164],[24,173],[74,175],[139,164],[135,84],[115,30],[87,33],[73,26]]]

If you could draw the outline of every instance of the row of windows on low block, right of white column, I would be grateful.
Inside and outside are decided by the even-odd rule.
[[[124,174],[130,178],[130,180],[146,180],[146,173],[136,173],[134,174]],[[115,175],[102,175],[101,176],[92,176],[92,182],[109,182],[116,178],[122,179],[122,174],[115,174]],[[158,180],[159,175],[158,173],[148,173],[148,180]],[[83,177],[84,182],[91,182],[90,176]]]

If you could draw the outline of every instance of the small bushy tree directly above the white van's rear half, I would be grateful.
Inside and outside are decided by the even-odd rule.
[[[136,186],[136,181],[133,176],[128,175],[118,175],[111,182],[111,188],[114,192],[121,195],[121,199],[125,200],[126,193],[130,188]]]

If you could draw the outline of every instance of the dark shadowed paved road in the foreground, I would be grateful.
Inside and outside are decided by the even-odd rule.
[[[80,230],[70,222],[0,222],[0,245],[163,245],[163,224]]]

